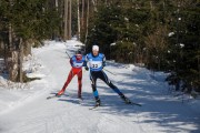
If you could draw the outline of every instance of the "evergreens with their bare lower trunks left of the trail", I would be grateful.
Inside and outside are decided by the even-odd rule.
[[[48,2],[49,0],[0,1],[0,49],[3,49],[6,64],[8,64],[7,59],[11,57],[11,53],[18,51],[18,58],[14,59],[18,61],[14,62],[16,65],[19,65],[19,70],[16,70],[18,71],[17,76],[12,75],[13,68],[7,65],[9,78],[12,81],[30,80],[23,79],[23,55],[31,54],[32,43],[51,39],[59,31],[58,23],[61,18],[58,10],[50,7]]]

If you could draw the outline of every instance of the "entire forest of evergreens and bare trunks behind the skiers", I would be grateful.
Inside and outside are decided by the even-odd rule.
[[[172,84],[200,92],[199,14],[200,0],[1,0],[1,73],[24,82],[31,48],[77,37],[87,52],[98,44],[108,60],[171,72]]]

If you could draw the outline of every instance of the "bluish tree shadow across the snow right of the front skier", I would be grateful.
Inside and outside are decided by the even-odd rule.
[[[122,74],[122,73],[120,73]],[[120,98],[107,85],[99,83],[98,90],[107,94],[100,94],[103,108],[101,113],[123,116],[137,116],[138,122],[144,127],[147,124],[161,126],[159,132],[200,132],[200,113],[192,112],[189,105],[182,104],[163,93],[164,82],[157,78],[144,80],[140,75],[123,73],[128,81],[113,82],[131,101],[139,102],[142,106],[131,106],[122,103]],[[131,80],[132,79],[132,80]],[[154,80],[157,79],[157,80]]]

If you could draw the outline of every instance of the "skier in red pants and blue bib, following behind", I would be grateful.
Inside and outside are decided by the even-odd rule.
[[[62,89],[56,94],[57,96],[64,93],[66,88],[71,82],[74,75],[78,76],[78,98],[82,99],[81,90],[82,90],[82,66],[84,65],[84,57],[81,54],[81,51],[77,51],[76,55],[70,58],[71,71],[69,72],[68,79],[62,86]]]

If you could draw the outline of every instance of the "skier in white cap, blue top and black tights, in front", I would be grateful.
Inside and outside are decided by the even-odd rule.
[[[106,57],[104,54],[99,53],[98,45],[93,45],[92,52],[86,55],[86,70],[88,71],[90,69],[90,80],[93,95],[96,99],[96,105],[101,104],[97,90],[97,79],[101,79],[102,81],[104,81],[104,83],[107,83],[116,93],[118,93],[126,103],[131,103],[130,100],[126,98],[116,85],[112,84],[112,82],[108,79],[107,74],[103,72],[103,68],[106,66]]]

